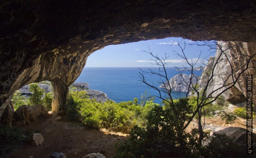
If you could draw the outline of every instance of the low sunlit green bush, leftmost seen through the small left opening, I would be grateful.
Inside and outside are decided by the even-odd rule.
[[[22,96],[19,90],[17,90],[14,93],[11,101],[12,101],[14,110],[16,110],[21,105],[30,105],[29,100],[26,97]]]

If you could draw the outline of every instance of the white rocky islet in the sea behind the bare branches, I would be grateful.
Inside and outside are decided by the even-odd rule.
[[[191,78],[191,75],[178,74],[170,79],[169,81],[170,86],[168,82],[166,82],[165,85],[161,84],[159,87],[166,88],[168,90],[171,88],[172,91],[187,92],[189,88],[190,78]],[[191,81],[192,81],[192,85],[195,84],[197,82],[197,77],[194,75]],[[190,87],[192,87],[192,85]]]

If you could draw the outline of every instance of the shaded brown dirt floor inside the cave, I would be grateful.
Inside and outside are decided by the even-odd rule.
[[[23,144],[6,157],[46,158],[58,152],[66,154],[67,157],[81,158],[87,154],[101,152],[108,158],[116,154],[115,143],[125,138],[125,135],[113,132],[110,134],[107,130],[88,129],[77,122],[69,122],[65,117],[55,120],[58,117],[39,118],[25,127],[41,133],[44,137],[43,145]]]

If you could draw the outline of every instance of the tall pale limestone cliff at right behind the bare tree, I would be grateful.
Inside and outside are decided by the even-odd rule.
[[[243,42],[238,47],[233,47],[238,42],[223,42],[218,41],[219,47],[222,47],[222,50],[226,50],[227,57],[225,57],[223,54],[218,60],[217,57],[220,56],[221,50],[217,49],[215,58],[210,57],[209,62],[207,66],[204,68],[202,72],[202,77],[199,81],[199,87],[200,90],[204,89],[206,86],[207,81],[209,80],[209,77],[212,75],[212,68],[213,65],[219,61],[216,64],[216,67],[213,71],[213,77],[209,83],[209,86],[207,88],[206,95],[209,96],[212,91],[217,90],[218,88],[222,87],[223,84],[227,85],[229,83],[232,83],[232,76],[231,74],[231,65],[233,67],[234,77],[238,76],[238,73],[241,72],[244,68],[240,70],[241,67],[244,66],[246,61],[248,60],[248,56],[252,56],[253,53],[255,53],[256,45],[251,43]],[[231,49],[228,49],[231,48]],[[229,59],[229,61],[227,60]],[[235,84],[234,87],[231,89],[225,91],[222,96],[225,98],[225,100],[237,103],[237,102],[243,102],[245,101],[246,96],[246,75],[247,74],[256,74],[256,56],[251,60],[252,62],[249,64],[248,70],[246,70],[240,77],[238,82]],[[253,86],[255,87],[256,80],[253,80]],[[226,86],[228,88],[228,86]],[[216,92],[212,94],[212,97],[217,96],[220,92],[222,92],[225,88],[219,89]],[[255,88],[253,88],[253,92],[255,93]],[[253,101],[255,102],[255,95],[253,96]]]

